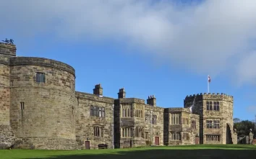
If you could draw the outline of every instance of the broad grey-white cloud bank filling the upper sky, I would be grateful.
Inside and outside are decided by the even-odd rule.
[[[255,0],[2,0],[0,14],[0,33],[124,41],[172,66],[255,84]]]

